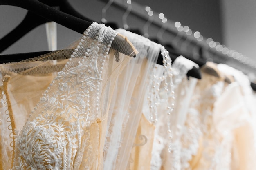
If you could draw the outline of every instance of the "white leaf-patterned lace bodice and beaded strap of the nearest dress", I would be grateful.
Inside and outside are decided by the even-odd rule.
[[[97,117],[101,115],[102,74],[116,35],[97,23],[83,33],[70,60],[58,72],[17,136],[13,170],[78,170],[80,166],[84,169],[101,166],[97,161],[99,151],[95,151],[95,145],[99,144],[93,142],[99,143],[99,139],[93,139],[90,131],[92,126],[101,126]]]

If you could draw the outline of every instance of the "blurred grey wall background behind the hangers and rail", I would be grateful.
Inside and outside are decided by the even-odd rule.
[[[126,4],[127,0],[118,0]],[[108,0],[69,0],[82,15],[101,22],[101,10]],[[164,13],[168,21],[180,22],[193,32],[199,31],[203,38],[212,38],[251,59],[256,60],[256,1],[255,0],[132,0],[141,7],[149,6],[155,14]],[[132,5],[132,4],[131,4]],[[106,11],[106,20],[123,27],[125,9],[111,5]],[[25,17],[26,10],[19,7],[0,6],[0,38],[14,29]],[[155,15],[156,17],[157,15]],[[147,21],[130,13],[127,24],[143,32]],[[160,27],[150,25],[149,37],[156,37]],[[80,37],[64,26],[57,25],[58,49],[65,48]],[[175,35],[164,32],[163,42],[168,43]],[[1,54],[47,51],[45,25],[38,26]]]

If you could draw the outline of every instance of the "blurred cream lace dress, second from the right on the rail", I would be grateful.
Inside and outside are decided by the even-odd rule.
[[[219,160],[218,157],[218,160],[214,159],[215,151],[218,149],[218,143],[216,143],[218,133],[213,124],[213,107],[223,92],[224,82],[222,77],[205,73],[206,66],[203,66],[201,70],[202,79],[198,80],[196,85],[189,109],[190,119],[186,121],[187,126],[191,128],[190,131],[193,132],[190,135],[192,137],[190,141],[193,144],[191,154],[193,155],[190,157],[190,166],[186,166],[186,170],[215,170]],[[191,119],[195,122],[189,122]]]

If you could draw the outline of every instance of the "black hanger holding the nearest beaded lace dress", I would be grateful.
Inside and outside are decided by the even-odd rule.
[[[37,0],[0,0],[0,5],[11,5],[27,9],[32,13],[36,13],[37,15],[46,18],[47,20],[54,21],[81,34],[83,34],[85,29],[87,29],[92,23],[62,11],[58,11]],[[118,34],[113,40],[112,48],[126,55],[130,55],[134,51],[132,44],[130,44],[130,42],[128,42],[127,39],[120,34]],[[2,55],[0,55],[0,57],[1,56]],[[9,57],[12,56],[9,55]],[[10,59],[10,61],[12,60]]]

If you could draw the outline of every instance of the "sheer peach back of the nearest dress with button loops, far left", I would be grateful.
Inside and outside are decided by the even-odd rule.
[[[13,132],[11,119],[16,130],[21,130],[29,113],[39,101],[45,88],[49,86],[52,75],[22,75],[8,71],[9,64],[1,64],[1,86],[0,86],[0,169],[11,168],[13,153]],[[31,86],[34,84],[34,86]],[[11,102],[11,105],[10,105]],[[18,113],[18,114],[13,114]],[[11,115],[11,116],[10,116]]]

